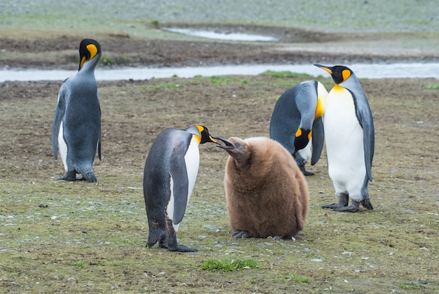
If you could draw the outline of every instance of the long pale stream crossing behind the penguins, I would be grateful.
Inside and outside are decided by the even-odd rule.
[[[333,65],[333,64],[325,64]],[[345,64],[358,78],[439,78],[439,63],[394,63],[394,64]],[[147,80],[151,78],[193,78],[194,76],[254,76],[264,71],[291,71],[308,73],[311,76],[329,76],[312,64],[251,64],[196,67],[126,67],[119,69],[99,69],[95,71],[97,80]],[[64,80],[76,71],[41,69],[0,69],[0,83],[6,80]]]

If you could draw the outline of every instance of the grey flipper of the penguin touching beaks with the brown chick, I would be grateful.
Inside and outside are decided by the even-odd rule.
[[[175,146],[175,152],[170,157],[169,173],[173,181],[174,215],[173,223],[182,221],[186,211],[189,195],[189,180],[187,176],[186,162],[184,161],[184,144]]]

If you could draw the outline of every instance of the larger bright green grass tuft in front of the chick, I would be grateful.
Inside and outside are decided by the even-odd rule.
[[[259,267],[259,263],[253,258],[237,258],[234,256],[227,256],[224,258],[208,258],[201,265],[201,269],[208,269],[211,271],[231,272],[245,268]]]

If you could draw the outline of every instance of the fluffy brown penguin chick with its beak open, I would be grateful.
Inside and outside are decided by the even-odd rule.
[[[308,186],[291,154],[265,137],[220,140],[230,155],[224,186],[233,236],[285,239],[303,230]]]

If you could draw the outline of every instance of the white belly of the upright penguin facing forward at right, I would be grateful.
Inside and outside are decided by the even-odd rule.
[[[332,90],[327,96],[323,127],[328,173],[336,193],[360,197],[366,174],[363,128],[348,90]]]

